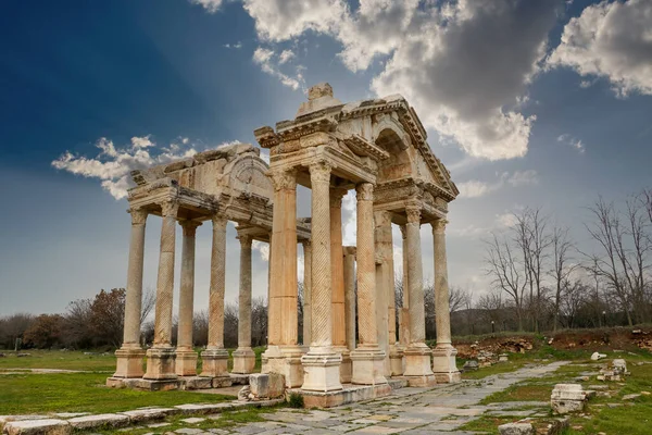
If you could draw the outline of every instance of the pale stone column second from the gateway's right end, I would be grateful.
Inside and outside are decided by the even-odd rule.
[[[410,345],[404,351],[405,372],[411,386],[430,386],[435,376],[430,369],[430,348],[426,345],[426,315],[424,309],[423,269],[421,250],[421,209],[405,210],[408,224],[408,282],[410,285]]]

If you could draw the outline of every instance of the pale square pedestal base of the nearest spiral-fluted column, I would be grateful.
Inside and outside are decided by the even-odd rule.
[[[331,348],[312,348],[301,357],[303,365],[302,390],[335,391],[342,389],[340,383],[340,364],[342,357]]]

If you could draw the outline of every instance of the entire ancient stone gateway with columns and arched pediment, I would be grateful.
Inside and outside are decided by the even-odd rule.
[[[124,344],[110,384],[197,374],[192,351],[195,228],[213,222],[209,345],[201,376],[229,376],[224,349],[226,222],[241,241],[239,335],[234,372],[250,373],[251,240],[271,243],[268,345],[263,373],[285,375],[288,388],[330,399],[365,386],[387,394],[388,378],[411,385],[455,382],[446,262],[448,203],[459,194],[426,142],[414,110],[400,96],[343,104],[328,84],[309,90],[294,120],[262,127],[255,137],[269,149],[267,165],[251,145],[235,145],[137,171],[129,191],[131,243]],[[312,190],[310,219],[297,219],[297,184]],[[356,246],[342,246],[341,201],[356,192]],[[139,344],[145,220],[163,217],[156,285],[155,337],[147,371]],[[172,347],[174,234],[184,228],[179,327]],[[391,225],[403,234],[403,308],[397,331]],[[437,346],[425,344],[422,224],[432,227]],[[297,245],[304,251],[304,343],[298,334]],[[355,285],[358,287],[355,296]],[[358,324],[355,324],[358,312]],[[358,334],[356,334],[358,332]],[[356,339],[358,337],[358,339]],[[339,391],[339,393],[338,393]],[[368,395],[367,395],[368,397]],[[339,400],[341,402],[341,400]]]

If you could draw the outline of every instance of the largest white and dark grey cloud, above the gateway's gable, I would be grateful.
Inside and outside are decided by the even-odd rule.
[[[402,94],[426,126],[489,160],[527,152],[536,117],[518,110],[544,57],[556,7],[526,0],[361,0],[351,11],[343,0],[244,1],[263,41],[326,34],[342,45],[339,57],[351,71],[389,57],[372,90]]]

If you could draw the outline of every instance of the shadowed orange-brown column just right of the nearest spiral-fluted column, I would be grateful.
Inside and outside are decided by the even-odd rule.
[[[342,356],[340,381],[351,382],[351,355],[347,347],[344,257],[342,248],[342,198],[346,189],[330,188],[330,264],[333,276],[333,350]]]

